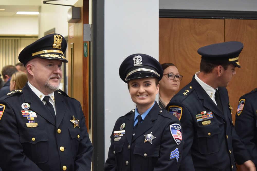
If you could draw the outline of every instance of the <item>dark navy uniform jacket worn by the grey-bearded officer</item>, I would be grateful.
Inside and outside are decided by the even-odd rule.
[[[54,97],[56,122],[27,84],[21,91],[1,98],[0,104],[5,106],[0,120],[0,167],[3,171],[90,170],[93,146],[81,105],[57,91]],[[25,102],[30,104],[29,110],[36,113],[36,127],[26,126],[27,117],[21,112]],[[79,127],[74,128],[71,123],[73,115],[79,120]]]

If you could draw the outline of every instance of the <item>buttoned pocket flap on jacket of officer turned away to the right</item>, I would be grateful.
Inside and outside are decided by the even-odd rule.
[[[210,124],[205,126],[197,127],[198,137],[211,137],[215,134],[221,133],[218,124]]]

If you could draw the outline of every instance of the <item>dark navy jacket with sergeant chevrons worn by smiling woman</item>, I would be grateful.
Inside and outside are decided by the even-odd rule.
[[[161,110],[155,102],[133,136],[134,116],[135,110],[132,110],[116,121],[113,132],[120,131],[121,125],[125,123],[123,129],[125,134],[121,136],[120,141],[114,141],[115,137],[112,132],[105,171],[178,170],[182,158],[184,136],[181,130],[182,141],[177,145],[171,135],[170,125],[180,125],[179,120],[166,110]],[[156,137],[152,140],[152,144],[144,142],[146,139],[144,135],[151,132]],[[170,158],[171,152],[172,156],[177,156],[177,158]]]

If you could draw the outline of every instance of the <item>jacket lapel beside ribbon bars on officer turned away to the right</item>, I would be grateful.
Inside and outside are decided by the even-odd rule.
[[[224,115],[223,115],[222,111],[212,101],[212,99],[208,96],[208,94],[202,88],[202,86],[196,81],[195,77],[193,77],[191,83],[192,83],[194,89],[196,90],[196,93],[197,93],[199,99],[203,100],[203,106],[205,108],[208,108],[210,111],[212,111],[213,113],[215,113],[216,115],[218,115],[224,119]],[[206,112],[208,112],[208,111],[206,111]],[[200,113],[197,113],[197,114],[200,114]]]

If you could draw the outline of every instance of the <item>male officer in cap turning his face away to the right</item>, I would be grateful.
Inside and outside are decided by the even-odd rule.
[[[245,170],[255,170],[234,130],[225,88],[236,74],[235,67],[240,68],[242,49],[238,41],[199,48],[200,72],[167,105],[179,118],[185,135],[180,170],[235,171],[236,163]]]

